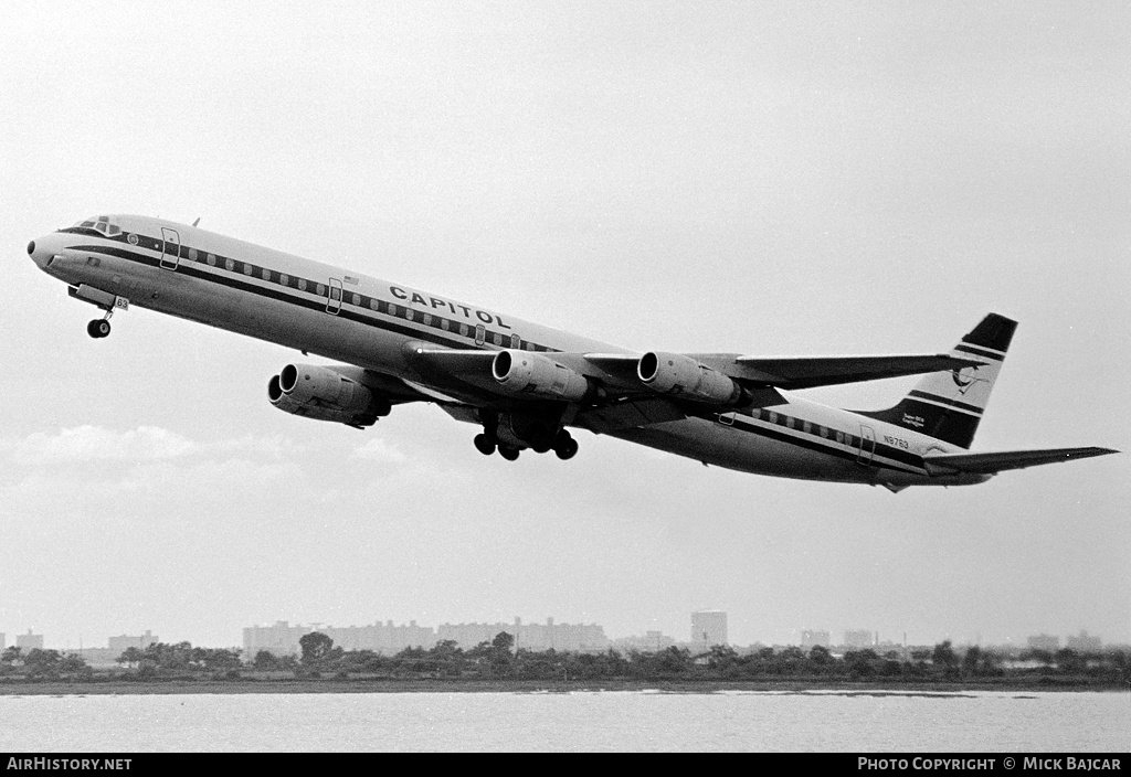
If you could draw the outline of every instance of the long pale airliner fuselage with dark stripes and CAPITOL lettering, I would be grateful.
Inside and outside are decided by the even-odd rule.
[[[221,329],[318,353],[474,403],[466,385],[422,373],[409,343],[547,353],[630,353],[492,308],[313,262],[161,219],[113,217],[113,237],[71,228],[35,241],[49,274]],[[931,477],[938,439],[782,394],[784,403],[611,431],[616,437],[743,472],[899,489],[986,475]],[[497,398],[498,399],[498,398]]]

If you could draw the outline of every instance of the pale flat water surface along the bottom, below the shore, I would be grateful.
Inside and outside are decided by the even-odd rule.
[[[1108,692],[242,693],[0,697],[0,750],[1131,750]]]

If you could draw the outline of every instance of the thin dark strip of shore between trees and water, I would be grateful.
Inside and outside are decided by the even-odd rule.
[[[163,680],[163,681],[0,681],[0,696],[149,696],[236,693],[839,693],[854,696],[955,696],[962,692],[1126,692],[1112,683],[1080,682],[815,682],[726,680]]]

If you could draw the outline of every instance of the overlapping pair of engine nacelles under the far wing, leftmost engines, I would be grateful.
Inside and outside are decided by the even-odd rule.
[[[287,365],[268,382],[267,399],[295,416],[359,427],[372,426],[391,409],[357,381],[318,365]]]

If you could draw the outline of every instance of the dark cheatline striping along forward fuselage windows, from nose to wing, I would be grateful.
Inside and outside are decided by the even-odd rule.
[[[71,232],[71,233],[78,233],[78,234],[87,234],[87,233],[93,232],[93,230],[83,229],[83,228],[74,228],[72,227],[70,229],[60,230],[60,232]],[[111,247],[111,246],[105,246],[105,245],[76,245],[76,246],[72,246],[72,250],[74,251],[85,251],[87,253],[101,253],[103,255],[115,256],[118,259],[122,259],[122,260],[130,261],[130,262],[136,262],[138,264],[144,264],[146,267],[161,268],[161,261],[162,261],[161,257],[158,257],[158,256],[147,256],[147,255],[140,254],[140,253],[138,253],[137,251],[133,250],[135,245],[133,244],[129,244],[129,242],[128,242],[128,237],[127,236],[130,233],[122,233],[121,235],[115,235],[114,237],[106,237],[105,235],[102,235],[100,233],[96,233],[96,232],[94,233],[94,235],[97,235],[97,237],[101,238],[101,239],[109,239],[109,241],[114,241],[114,242],[118,242],[118,243],[128,244],[129,247],[121,247],[121,248],[119,248],[119,247]],[[133,234],[137,235],[136,233],[133,233]],[[161,252],[162,246],[164,245],[163,241],[156,241],[156,239],[154,239],[152,237],[147,237],[145,235],[137,235],[137,237],[138,237],[138,245],[140,247],[143,247],[143,248],[149,248],[152,251]],[[321,283],[323,287],[328,287],[328,285],[327,285],[327,282],[325,280],[313,280],[313,279],[309,279],[309,278],[302,278],[301,276],[291,276],[291,280],[287,283],[287,286],[280,286],[277,282],[277,279],[279,277],[279,271],[278,270],[270,270],[270,268],[262,268],[260,265],[251,264],[250,262],[244,262],[243,260],[238,260],[238,259],[232,257],[232,256],[223,256],[221,254],[215,254],[215,253],[211,253],[211,252],[205,252],[205,251],[200,251],[200,250],[197,250],[198,259],[197,259],[197,261],[193,261],[193,260],[189,259],[189,251],[190,251],[190,246],[185,246],[185,245],[181,245],[180,246],[180,257],[183,259],[184,262],[178,263],[175,272],[178,272],[180,274],[189,276],[191,278],[197,278],[197,279],[200,279],[200,280],[206,281],[206,282],[218,283],[221,286],[225,286],[225,287],[228,287],[228,288],[232,288],[232,289],[239,289],[239,290],[245,291],[248,294],[254,294],[257,296],[265,297],[265,298],[268,298],[268,299],[276,299],[278,302],[283,302],[283,303],[291,304],[291,305],[295,305],[297,307],[303,307],[303,308],[307,308],[309,311],[326,313],[326,302],[327,300],[326,300],[325,297],[321,297],[319,299],[307,299],[304,297],[297,296],[297,294],[293,294],[293,293],[284,290],[284,289],[291,289],[292,288],[291,283],[297,283],[299,280],[305,280],[307,283],[310,285],[312,288],[317,283]],[[202,257],[206,256],[206,255],[208,255],[209,253],[211,253],[211,255],[216,257],[216,264],[215,265],[210,265],[210,264],[205,264],[204,263]],[[172,256],[172,254],[167,254],[167,256]],[[225,268],[225,264],[226,264],[226,262],[228,260],[232,260],[234,262],[232,270],[227,270]],[[200,267],[198,267],[198,265],[200,265]],[[265,270],[265,269],[270,270],[271,279],[273,280],[265,280],[265,281],[262,281],[264,283],[270,283],[270,286],[264,287],[264,286],[259,286],[258,283],[249,283],[249,282],[247,282],[244,280],[241,280],[239,278],[231,278],[231,277],[228,277],[226,274],[223,274],[224,272],[241,272],[243,270],[243,268],[245,268],[248,265],[250,265],[250,267],[253,268],[252,272],[250,274],[248,274],[248,277],[250,277],[250,278],[261,279],[262,270]],[[215,267],[215,271],[206,271],[206,270],[201,269],[202,267],[208,267],[208,268]],[[242,274],[247,274],[247,273],[242,273]],[[290,273],[287,273],[287,274],[290,274]],[[297,291],[297,289],[295,289],[295,290]],[[313,294],[313,291],[310,291],[309,294]],[[352,293],[351,293],[351,295],[352,295]],[[448,346],[448,347],[451,347],[451,348],[466,349],[466,348],[476,348],[477,347],[474,343],[475,324],[473,324],[473,323],[460,322],[460,321],[456,321],[454,318],[448,318],[449,323],[456,325],[457,328],[460,324],[466,324],[468,326],[468,334],[466,334],[466,335],[461,335],[458,332],[454,332],[451,330],[443,330],[443,329],[438,329],[437,331],[421,331],[418,329],[414,329],[414,328],[411,328],[411,326],[405,326],[405,325],[396,323],[396,322],[390,322],[390,321],[385,321],[385,320],[378,318],[377,317],[378,314],[394,315],[394,314],[389,313],[389,306],[391,306],[392,303],[387,303],[386,300],[379,299],[377,297],[368,296],[368,295],[360,295],[360,296],[362,296],[362,302],[365,305],[368,305],[371,299],[375,299],[378,302],[378,309],[373,311],[372,314],[368,314],[366,315],[366,314],[359,313],[356,311],[348,309],[345,305],[343,305],[342,309],[338,313],[336,313],[336,314],[331,313],[331,314],[328,314],[328,315],[336,315],[339,318],[347,318],[349,321],[354,321],[354,322],[357,322],[360,324],[364,324],[366,326],[377,326],[379,329],[383,329],[383,330],[387,330],[387,331],[390,331],[390,332],[396,332],[397,334],[403,334],[403,335],[408,337],[408,338],[415,338],[417,340],[425,340],[428,342],[432,342],[432,343],[435,343],[435,344]],[[353,304],[353,303],[352,303],[352,300],[347,300],[347,304]],[[361,307],[361,306],[359,306],[359,307]],[[418,308],[414,308],[414,307],[411,307],[411,306],[407,306],[407,305],[404,305],[404,304],[397,304],[396,308],[398,311],[398,314],[395,317],[403,317],[402,314],[404,312],[406,312],[406,311],[413,311],[414,316],[421,316],[421,315],[423,315],[423,313],[425,313],[425,312],[420,311]],[[435,313],[432,313],[432,312],[426,312],[426,313],[430,316],[432,316],[432,318],[434,321],[438,321],[438,322],[444,318],[444,316],[437,315]],[[431,324],[423,324],[423,322],[422,322],[421,325],[422,326],[429,326],[429,330],[432,329]],[[485,331],[486,341],[490,344],[495,344],[493,340],[494,340],[494,335],[497,333],[500,334],[500,337],[502,339],[502,344],[501,346],[497,346],[497,347],[510,347],[510,334],[509,333],[504,333],[504,332],[495,332],[494,330],[486,330]],[[461,339],[457,340],[455,338],[467,338],[467,339],[472,339],[473,342],[466,342],[465,340],[461,340]],[[527,340],[524,340],[524,341],[520,342],[520,346],[524,349],[525,349],[525,347],[527,344],[533,346],[533,350],[534,351],[541,351],[541,352],[555,352],[556,351],[556,349],[554,349],[554,348],[550,348],[547,346],[542,346],[542,344],[538,344],[538,343],[532,343],[532,342],[529,342]],[[485,349],[485,346],[484,347],[480,347],[480,348],[484,348]]]

